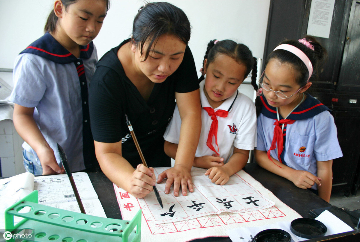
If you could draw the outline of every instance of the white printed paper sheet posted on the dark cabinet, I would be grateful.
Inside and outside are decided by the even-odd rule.
[[[312,0],[307,34],[329,38],[335,0]]]

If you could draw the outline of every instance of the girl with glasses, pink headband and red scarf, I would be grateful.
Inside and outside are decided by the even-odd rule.
[[[283,41],[267,57],[257,100],[256,162],[330,200],[333,159],[342,157],[329,109],[305,91],[326,50],[314,37]]]

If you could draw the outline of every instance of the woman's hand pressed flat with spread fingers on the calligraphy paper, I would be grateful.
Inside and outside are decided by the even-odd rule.
[[[186,196],[187,188],[189,188],[190,192],[194,191],[190,170],[191,167],[189,169],[181,164],[175,164],[174,167],[171,167],[159,174],[157,183],[160,183],[163,179],[167,178],[165,194],[170,193],[171,185],[174,184],[174,196],[177,197],[179,195],[180,187],[182,194]]]

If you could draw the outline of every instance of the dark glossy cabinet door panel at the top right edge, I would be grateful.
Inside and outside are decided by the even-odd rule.
[[[360,92],[360,1],[353,0],[337,90]]]

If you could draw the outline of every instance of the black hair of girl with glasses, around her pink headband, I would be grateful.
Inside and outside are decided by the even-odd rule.
[[[314,50],[308,48],[298,40],[285,39],[279,45],[292,45],[304,52],[305,55],[309,58],[313,69],[309,81],[316,80],[318,78],[319,69],[327,58],[327,51],[313,36],[305,36],[305,39],[306,41],[310,42],[310,44],[314,47]],[[291,64],[292,67],[297,71],[296,83],[300,85],[300,87],[305,86],[307,80],[309,79],[309,71],[307,70],[304,62],[302,62],[299,57],[286,50],[275,50],[271,52],[269,56],[267,56],[265,66],[271,59],[279,60],[280,63]]]

